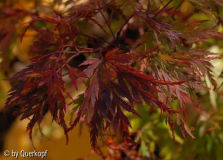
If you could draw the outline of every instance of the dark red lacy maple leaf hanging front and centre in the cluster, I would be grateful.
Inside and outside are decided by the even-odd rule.
[[[124,139],[130,139],[131,124],[123,111],[140,115],[134,109],[134,103],[143,105],[143,101],[155,106],[168,114],[181,113],[160,102],[156,93],[159,85],[180,85],[182,82],[156,80],[129,66],[139,57],[132,54],[115,54],[117,49],[106,53],[105,58],[91,58],[81,65],[88,65],[84,73],[90,78],[72,129],[81,117],[86,118],[90,128],[91,144],[96,148],[97,137],[105,134],[108,128],[118,130]],[[140,55],[139,55],[140,56]]]

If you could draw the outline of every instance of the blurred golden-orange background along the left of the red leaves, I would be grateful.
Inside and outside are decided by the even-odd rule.
[[[38,3],[38,4],[35,4]],[[3,25],[7,25],[6,22],[9,21],[11,9],[21,9],[21,10],[27,10],[30,12],[39,12],[40,16],[45,15],[51,15],[51,13],[55,10],[63,10],[66,9],[64,3],[66,3],[66,0],[59,1],[59,3],[56,3],[56,1],[53,0],[37,0],[37,1],[30,1],[30,0],[6,0],[6,1],[0,1],[0,9],[7,8],[5,11],[6,13],[9,13],[9,15],[5,17],[1,17],[0,19],[0,27]],[[75,4],[84,3],[84,1],[77,1]],[[13,16],[13,15],[12,15]],[[22,63],[16,63],[15,65],[11,66],[11,68],[8,68],[10,72],[17,72],[29,62],[29,47],[32,44],[36,32],[32,30],[28,30],[22,43],[20,42],[20,37],[24,29],[24,23],[31,20],[30,16],[24,16],[21,19],[18,19],[15,21],[14,19],[10,21],[12,22],[11,25],[15,25],[15,33],[16,36],[15,39],[13,39],[13,43],[10,46],[10,54],[14,57],[17,57],[20,62]],[[0,62],[2,62],[2,59],[0,58]],[[25,65],[24,65],[25,64]],[[4,81],[3,70],[0,71],[0,110],[3,110],[4,108],[4,102],[7,98],[7,91],[10,89],[11,84],[7,81]],[[7,117],[6,117],[7,118]],[[48,118],[48,119],[47,119]],[[50,116],[46,116],[45,122],[47,123],[44,125],[44,128],[42,128],[43,134],[41,135],[38,126],[35,127],[33,131],[33,141],[34,146],[36,147],[38,152],[45,152],[48,150],[47,157],[44,158],[46,160],[75,160],[78,158],[86,158],[88,155],[91,155],[92,148],[90,145],[90,137],[89,132],[86,126],[82,127],[82,134],[79,135],[79,128],[78,125],[75,127],[70,133],[69,133],[69,144],[66,145],[66,138],[63,133],[63,130],[56,124],[51,123],[51,120],[49,119]],[[67,120],[69,122],[69,120]],[[21,150],[24,150],[25,152],[32,152],[34,151],[34,148],[31,144],[31,141],[29,139],[29,134],[26,132],[26,127],[28,124],[28,120],[20,121],[19,117],[12,123],[8,131],[2,131],[6,132],[4,137],[4,147],[3,151],[9,150],[10,152],[13,150],[15,152],[21,152]],[[6,123],[0,122],[0,124]],[[2,143],[2,142],[1,142]],[[9,157],[5,157],[3,155],[3,152],[0,153],[0,160],[14,160],[15,158],[11,155]],[[23,157],[19,156],[18,160],[24,159]],[[38,157],[32,157],[32,158],[26,158],[26,159],[32,159],[32,160],[38,160],[41,158]],[[100,157],[96,154],[93,154],[89,157],[91,160],[100,159]]]

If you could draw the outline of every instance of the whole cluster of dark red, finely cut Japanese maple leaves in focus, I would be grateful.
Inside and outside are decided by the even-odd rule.
[[[127,142],[131,140],[131,124],[125,111],[140,117],[134,104],[160,109],[167,115],[173,135],[177,124],[183,135],[186,131],[193,137],[185,125],[186,105],[199,107],[195,91],[208,89],[201,77],[208,76],[214,88],[217,87],[209,61],[218,57],[193,49],[191,45],[211,36],[223,38],[223,34],[213,28],[201,29],[199,24],[204,21],[189,21],[188,16],[177,11],[179,6],[169,8],[170,3],[158,9],[156,3],[150,1],[145,8],[133,0],[91,0],[64,15],[33,17],[27,29],[38,32],[30,51],[34,58],[30,66],[9,79],[16,85],[9,91],[6,108],[18,104],[20,107],[15,109],[15,114],[21,115],[21,120],[31,119],[27,128],[31,139],[34,125],[40,123],[47,112],[62,126],[66,136],[84,118],[95,151],[98,151],[98,137],[103,140],[108,131],[120,133]],[[125,8],[129,9],[128,15]],[[123,22],[117,30],[112,27],[113,23],[117,25],[115,16]],[[101,20],[96,20],[98,17]],[[140,36],[121,43],[126,30],[135,27],[130,20],[139,28]],[[50,31],[37,27],[37,22],[44,23]],[[92,33],[91,29],[96,27],[104,38]],[[72,67],[70,62],[80,55],[87,60]],[[73,100],[73,88],[65,87],[63,77],[67,74],[74,88],[81,83],[86,85],[79,100]],[[69,99],[79,102],[75,108],[76,118],[70,126],[64,119]],[[181,109],[171,107],[174,99],[180,101]],[[176,123],[172,119],[176,114],[183,114],[184,119]]]

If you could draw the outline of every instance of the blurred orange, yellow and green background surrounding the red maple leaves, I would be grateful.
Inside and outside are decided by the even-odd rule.
[[[0,159],[11,160],[13,157],[4,157],[4,150],[33,151],[29,140],[26,126],[28,121],[20,121],[12,116],[12,110],[4,112],[4,102],[7,98],[7,91],[13,84],[3,79],[12,76],[29,64],[29,47],[35,39],[36,32],[28,30],[21,43],[20,37],[24,31],[24,23],[31,20],[31,14],[39,16],[50,16],[53,12],[63,12],[72,5],[80,5],[86,0],[1,0],[0,1]],[[163,1],[166,3],[167,1]],[[222,4],[223,2],[220,1]],[[173,4],[178,3],[177,0]],[[223,7],[218,5],[214,8],[223,18]],[[194,7],[187,0],[180,8],[181,12],[190,14]],[[195,18],[209,19],[203,27],[216,25],[216,17],[207,17],[204,13],[198,12]],[[223,32],[223,21],[216,29]],[[206,25],[206,26],[205,26]],[[202,44],[202,47],[209,51],[219,53],[223,57],[223,40],[210,38]],[[176,134],[176,142],[173,141],[171,131],[165,124],[165,117],[155,111],[151,116],[146,109],[139,110],[143,119],[131,117],[133,131],[140,130],[141,134],[135,136],[135,140],[142,140],[139,152],[142,155],[158,157],[163,159],[223,159],[223,94],[221,84],[223,82],[223,60],[212,61],[214,75],[218,81],[217,91],[201,91],[197,93],[201,100],[201,111],[189,109],[189,124],[193,128],[196,137],[183,139]],[[210,83],[207,85],[211,87]],[[173,105],[179,105],[177,102]],[[44,125],[38,126],[33,133],[34,144],[38,151],[48,150],[46,160],[75,160],[78,158],[101,159],[93,154],[90,146],[90,138],[86,126],[78,125],[69,133],[69,144],[66,145],[63,130],[54,122],[51,123],[50,116],[44,121]],[[69,120],[68,120],[69,121]],[[82,133],[79,133],[79,128]],[[21,156],[18,159],[23,159]],[[30,159],[30,158],[29,158]],[[40,158],[32,158],[40,159]]]

